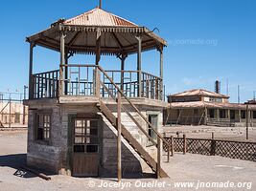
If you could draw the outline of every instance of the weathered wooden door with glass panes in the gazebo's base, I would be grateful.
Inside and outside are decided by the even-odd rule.
[[[98,118],[73,119],[73,176],[97,177],[99,175],[98,120]]]

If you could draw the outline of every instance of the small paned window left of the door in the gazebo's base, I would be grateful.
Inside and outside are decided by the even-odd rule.
[[[49,141],[51,129],[50,114],[36,114],[36,139]]]

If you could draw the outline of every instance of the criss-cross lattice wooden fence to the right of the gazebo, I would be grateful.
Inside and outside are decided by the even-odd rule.
[[[171,138],[165,138],[171,145]],[[185,145],[185,146],[184,146]],[[168,146],[163,144],[164,150]],[[231,159],[256,161],[256,142],[230,141],[203,138],[174,138],[175,152],[200,154],[206,156],[221,156]]]

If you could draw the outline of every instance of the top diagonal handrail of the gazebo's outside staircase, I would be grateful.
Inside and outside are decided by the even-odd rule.
[[[161,138],[163,140],[163,142],[165,143],[168,143],[166,141],[165,138],[163,138],[155,129],[154,127],[152,126],[151,122],[146,118],[144,117],[141,112],[138,110],[138,108],[128,99],[127,96],[125,96],[125,94],[119,89],[119,87],[114,83],[114,81],[111,79],[111,77],[108,76],[108,74],[105,73],[105,70],[101,67],[101,66],[98,66],[98,69],[103,73],[105,74],[105,76],[108,78],[108,80],[113,84],[113,86],[116,88],[116,90],[121,94],[121,96],[123,96],[129,103],[129,105],[136,111],[136,113],[143,118],[143,120],[145,120],[145,122],[151,126],[151,129],[153,130],[153,132],[157,135],[158,138]]]

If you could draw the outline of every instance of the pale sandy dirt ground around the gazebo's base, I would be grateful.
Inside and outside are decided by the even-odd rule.
[[[170,130],[170,129],[169,129]],[[179,128],[180,130],[180,128]],[[173,131],[173,130],[172,130]],[[111,179],[79,179],[51,175],[52,180],[42,180],[20,170],[26,162],[26,131],[0,131],[0,190],[221,190],[256,191],[256,163],[239,159],[181,155],[175,153],[170,163],[163,162],[163,168],[170,179],[125,179],[118,184]],[[20,170],[20,171],[19,171]],[[193,184],[194,183],[194,184]],[[214,183],[219,183],[218,188]],[[222,183],[222,184],[221,184]],[[230,187],[231,183],[234,183]],[[183,188],[181,187],[183,186]],[[197,186],[200,185],[197,189]],[[179,187],[178,187],[179,186]],[[190,187],[189,187],[190,186]],[[211,187],[212,186],[212,187]],[[222,187],[220,187],[222,186]],[[228,186],[228,187],[224,187]],[[186,187],[186,188],[185,188]]]

